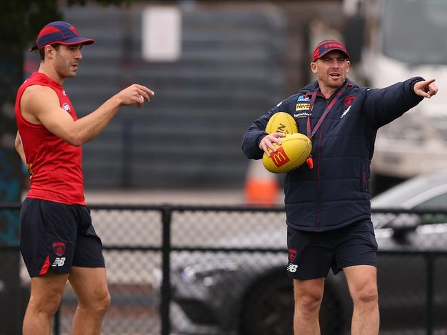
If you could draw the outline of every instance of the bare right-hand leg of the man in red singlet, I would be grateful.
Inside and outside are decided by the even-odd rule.
[[[68,278],[78,297],[72,335],[98,335],[102,318],[110,305],[105,268],[72,266]]]

